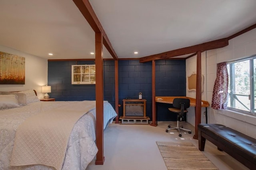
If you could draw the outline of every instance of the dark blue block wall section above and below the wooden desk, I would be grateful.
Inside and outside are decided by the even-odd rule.
[[[156,61],[156,96],[186,96],[185,60]],[[177,120],[176,114],[170,113],[168,107],[172,107],[172,105],[156,103],[158,121]]]

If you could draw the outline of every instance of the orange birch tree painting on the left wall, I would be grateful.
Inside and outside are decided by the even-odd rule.
[[[25,57],[0,51],[0,84],[25,84]]]

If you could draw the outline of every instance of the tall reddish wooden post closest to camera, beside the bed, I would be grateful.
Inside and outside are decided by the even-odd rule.
[[[95,32],[95,67],[96,67],[96,165],[103,165],[104,157],[104,135],[103,135],[103,37],[101,32]]]

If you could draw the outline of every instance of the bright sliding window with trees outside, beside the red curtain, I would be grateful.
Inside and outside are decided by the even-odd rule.
[[[227,64],[228,107],[256,113],[256,56]]]

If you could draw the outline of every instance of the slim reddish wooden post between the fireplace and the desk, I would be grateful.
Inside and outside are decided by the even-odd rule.
[[[156,61],[152,60],[152,123],[156,127]]]

